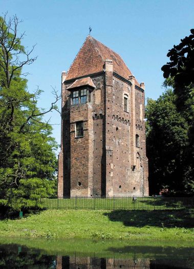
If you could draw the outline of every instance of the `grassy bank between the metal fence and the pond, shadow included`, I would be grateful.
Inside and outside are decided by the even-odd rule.
[[[1,220],[1,237],[122,240],[194,239],[194,211],[47,210]]]

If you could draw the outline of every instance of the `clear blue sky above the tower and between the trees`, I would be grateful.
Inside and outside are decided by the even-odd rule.
[[[119,53],[146,97],[158,98],[166,54],[194,28],[194,0],[0,0],[0,11],[14,14],[26,32],[23,45],[37,44],[37,60],[27,66],[29,91],[44,90],[39,107],[49,108],[51,85],[60,92],[67,71],[92,27],[91,35]],[[2,15],[0,13],[0,15]],[[58,102],[60,107],[60,102]],[[53,136],[60,143],[60,115],[52,113]]]

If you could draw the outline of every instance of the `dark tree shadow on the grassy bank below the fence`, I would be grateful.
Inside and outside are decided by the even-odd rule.
[[[194,210],[156,210],[129,211],[114,210],[104,213],[111,221],[122,221],[125,226],[159,226],[192,228],[194,225]]]

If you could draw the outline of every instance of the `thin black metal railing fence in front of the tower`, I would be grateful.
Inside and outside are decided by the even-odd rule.
[[[180,210],[194,208],[194,197],[112,196],[41,198],[45,209],[87,210]]]

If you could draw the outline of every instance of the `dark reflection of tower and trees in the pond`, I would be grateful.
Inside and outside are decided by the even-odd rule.
[[[141,247],[140,247],[141,248]],[[56,269],[157,269],[157,268],[194,268],[194,258],[190,251],[175,249],[161,252],[140,251],[133,247],[117,253],[80,253],[56,251],[56,254],[44,250],[29,249],[17,244],[0,245],[0,268],[56,268]],[[133,249],[133,251],[132,251]]]

